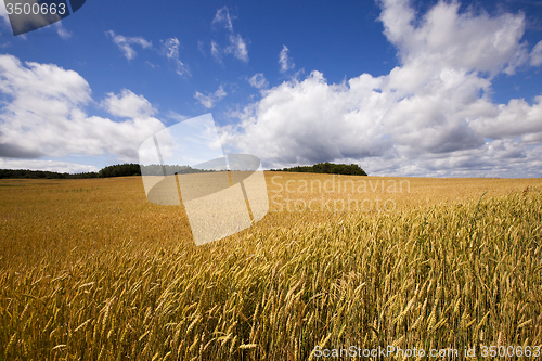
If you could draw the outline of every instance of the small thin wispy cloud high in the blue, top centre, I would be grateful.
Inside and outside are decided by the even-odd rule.
[[[228,7],[223,7],[219,10],[217,10],[217,13],[215,15],[215,18],[212,20],[212,25],[219,25],[222,26],[224,29],[228,30],[228,44],[222,47],[223,51],[220,50],[219,44],[215,41],[211,40],[210,47],[211,47],[211,54],[215,57],[215,60],[219,63],[222,62],[222,52],[224,54],[232,54],[234,57],[237,60],[247,63],[248,62],[248,47],[247,47],[247,40],[243,39],[241,34],[235,33],[233,30],[233,23],[232,21],[235,20],[235,16],[232,16],[230,14],[230,10]]]

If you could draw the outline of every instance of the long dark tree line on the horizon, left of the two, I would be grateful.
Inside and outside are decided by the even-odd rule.
[[[198,173],[204,171],[212,171],[212,170],[203,170],[195,169],[189,166],[160,166],[157,164],[143,166],[146,176],[163,176],[164,170],[166,170],[166,175],[186,175],[186,173]],[[0,179],[5,178],[27,178],[27,179],[83,179],[83,178],[111,178],[111,177],[129,177],[129,176],[141,176],[141,167],[139,164],[134,163],[125,163],[117,164],[114,166],[108,166],[101,169],[99,172],[90,171],[83,173],[59,173],[55,171],[48,170],[29,170],[29,169],[0,169]]]

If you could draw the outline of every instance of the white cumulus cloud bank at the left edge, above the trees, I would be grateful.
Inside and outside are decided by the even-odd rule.
[[[136,162],[141,143],[164,129],[149,101],[129,90],[102,102],[125,120],[87,115],[89,83],[53,64],[0,55],[0,158],[109,154]]]

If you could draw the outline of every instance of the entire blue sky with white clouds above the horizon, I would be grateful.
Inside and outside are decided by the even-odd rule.
[[[211,113],[267,168],[542,177],[540,0],[88,0],[17,37],[0,12],[0,168],[137,163]]]

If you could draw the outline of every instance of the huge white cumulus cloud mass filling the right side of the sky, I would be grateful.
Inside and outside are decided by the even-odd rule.
[[[235,114],[241,123],[221,132],[227,147],[268,167],[340,162],[373,175],[541,177],[542,96],[530,105],[489,95],[496,74],[535,63],[538,46],[529,55],[521,41],[524,15],[461,13],[443,1],[420,15],[409,3],[382,1],[400,61],[388,75],[328,83],[312,72],[285,81]]]

